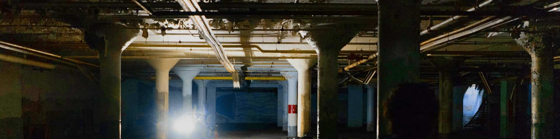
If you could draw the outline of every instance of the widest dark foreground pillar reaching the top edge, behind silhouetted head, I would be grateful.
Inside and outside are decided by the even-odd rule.
[[[420,1],[378,0],[377,138],[389,138],[392,128],[386,102],[398,84],[417,83],[420,66]]]

